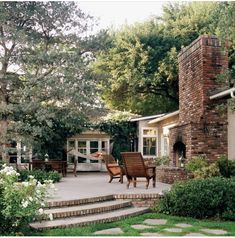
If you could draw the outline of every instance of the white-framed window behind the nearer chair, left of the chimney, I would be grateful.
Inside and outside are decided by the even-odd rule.
[[[143,156],[157,155],[157,130],[153,128],[143,128]]]

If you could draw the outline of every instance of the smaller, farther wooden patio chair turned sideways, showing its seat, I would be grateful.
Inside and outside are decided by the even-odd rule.
[[[109,183],[112,182],[114,178],[119,178],[120,182],[123,183],[123,169],[117,164],[115,158],[112,155],[102,155],[105,162],[107,171],[110,176]]]

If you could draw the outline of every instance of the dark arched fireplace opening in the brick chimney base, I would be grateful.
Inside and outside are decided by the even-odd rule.
[[[177,141],[173,145],[173,163],[176,167],[183,167],[183,161],[186,158],[186,146],[183,142]]]

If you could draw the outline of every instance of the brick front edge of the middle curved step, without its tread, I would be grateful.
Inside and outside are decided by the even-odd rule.
[[[58,218],[67,218],[67,217],[75,217],[75,216],[87,216],[91,214],[97,214],[97,213],[104,213],[104,212],[110,212],[126,207],[132,207],[132,202],[125,202],[122,204],[107,206],[107,207],[99,207],[99,208],[91,208],[91,209],[84,209],[84,210],[75,210],[75,211],[68,211],[68,212],[56,212],[52,213],[54,219]],[[50,210],[48,210],[50,211]],[[50,213],[50,212],[49,212]]]

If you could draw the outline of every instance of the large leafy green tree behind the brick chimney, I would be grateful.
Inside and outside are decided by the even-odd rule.
[[[112,43],[94,64],[103,100],[143,115],[177,109],[177,54],[199,35],[215,32],[217,4],[167,4],[162,17],[111,32]]]

